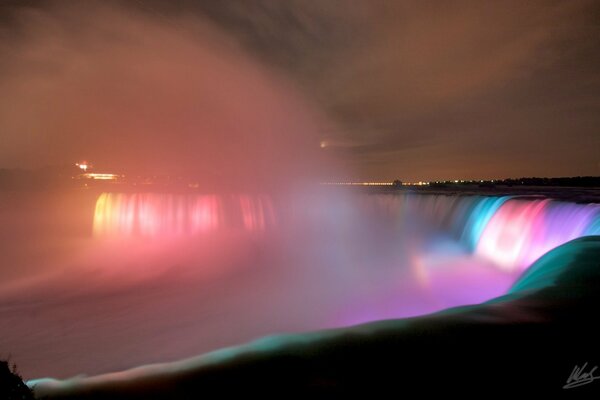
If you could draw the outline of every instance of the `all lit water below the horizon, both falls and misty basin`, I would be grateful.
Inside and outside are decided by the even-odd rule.
[[[508,197],[106,193],[78,211],[20,203],[5,215],[15,272],[0,286],[0,352],[27,378],[480,303],[548,250],[600,234],[599,205]],[[66,217],[75,211],[85,223]],[[11,237],[12,226],[24,231]]]

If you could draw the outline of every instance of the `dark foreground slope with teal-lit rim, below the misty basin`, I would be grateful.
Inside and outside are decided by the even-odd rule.
[[[580,238],[538,260],[507,295],[480,305],[270,337],[190,360],[30,385],[50,399],[600,392],[600,379],[590,379],[600,377],[594,372],[600,366],[599,260],[600,236]]]

